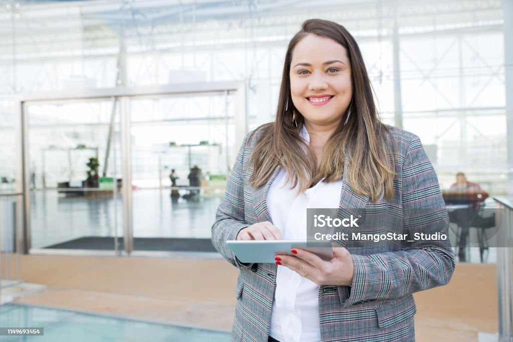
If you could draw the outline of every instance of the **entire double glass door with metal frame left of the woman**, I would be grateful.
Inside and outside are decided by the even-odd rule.
[[[20,99],[25,249],[214,251],[210,227],[247,131],[245,93],[221,82]]]

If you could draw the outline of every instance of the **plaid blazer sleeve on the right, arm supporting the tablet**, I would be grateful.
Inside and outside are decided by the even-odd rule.
[[[447,234],[449,217],[435,170],[415,137],[402,168],[404,231]],[[411,239],[411,238],[410,238]],[[415,240],[399,251],[352,255],[354,274],[344,307],[374,299],[393,300],[445,285],[455,269],[454,252],[445,241]]]

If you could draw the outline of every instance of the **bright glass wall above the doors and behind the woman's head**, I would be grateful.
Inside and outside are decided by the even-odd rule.
[[[0,6],[8,23],[0,28],[0,94],[245,79],[253,128],[274,118],[288,40],[305,19],[320,17],[356,37],[384,122],[402,122],[430,146],[442,187],[464,171],[501,194],[502,5],[7,2]],[[11,104],[6,97],[0,106]],[[423,125],[425,118],[433,120]]]

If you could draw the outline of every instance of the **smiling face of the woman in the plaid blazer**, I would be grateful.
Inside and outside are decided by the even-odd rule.
[[[346,48],[315,34],[304,37],[292,50],[290,93],[307,126],[337,126],[352,96]]]

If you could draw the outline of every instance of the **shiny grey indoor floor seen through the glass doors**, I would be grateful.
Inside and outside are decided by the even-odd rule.
[[[134,237],[210,238],[221,195],[172,198],[169,190],[133,191]],[[45,248],[83,236],[123,236],[123,202],[112,195],[69,196],[33,191],[32,248]],[[112,247],[114,248],[114,247]]]

